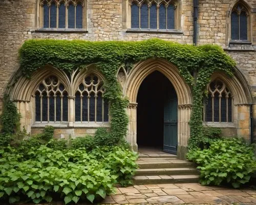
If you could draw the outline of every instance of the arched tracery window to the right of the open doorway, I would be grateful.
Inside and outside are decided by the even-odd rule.
[[[205,103],[206,122],[232,122],[232,95],[226,85],[212,81],[208,86],[208,98]]]

